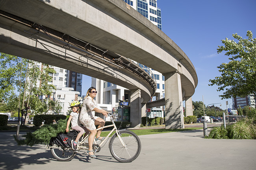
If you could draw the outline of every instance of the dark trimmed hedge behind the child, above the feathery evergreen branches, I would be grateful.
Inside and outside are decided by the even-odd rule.
[[[41,126],[44,121],[45,124],[52,124],[53,120],[59,121],[60,119],[66,119],[66,115],[35,115],[34,125]]]

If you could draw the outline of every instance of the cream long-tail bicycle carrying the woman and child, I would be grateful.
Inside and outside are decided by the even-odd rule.
[[[129,130],[119,130],[115,125],[115,122],[113,121],[115,115],[108,115],[111,117],[112,124],[98,128],[96,130],[98,131],[112,126],[113,129],[101,141],[100,144],[96,144],[96,141],[94,139],[94,152],[100,152],[102,144],[107,141],[110,135],[115,131],[109,141],[109,150],[111,155],[121,163],[128,163],[134,161],[141,152],[141,141],[139,140],[139,137],[134,132],[131,132]],[[72,150],[72,148],[58,146],[54,143],[50,143],[49,148],[52,156],[58,161],[70,161],[80,150],[89,149],[89,144],[85,142],[88,136],[89,134],[85,137],[81,137],[82,139],[78,142],[76,146],[77,150]]]

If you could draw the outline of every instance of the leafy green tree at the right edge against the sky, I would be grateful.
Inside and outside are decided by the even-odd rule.
[[[248,39],[233,34],[235,40],[226,38],[222,40],[224,46],[218,46],[217,52],[227,51],[225,55],[230,62],[223,63],[217,68],[221,76],[209,80],[213,86],[219,86],[217,91],[224,91],[219,95],[221,99],[231,97],[245,97],[256,92],[256,38],[252,38],[252,32],[247,31]]]

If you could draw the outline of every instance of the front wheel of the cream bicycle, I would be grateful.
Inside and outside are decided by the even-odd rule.
[[[141,152],[141,141],[139,137],[129,130],[122,130],[118,132],[123,144],[119,140],[117,133],[115,133],[109,142],[109,150],[111,155],[119,162],[132,162]]]

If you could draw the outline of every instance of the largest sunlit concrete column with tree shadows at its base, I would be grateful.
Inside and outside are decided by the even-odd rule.
[[[165,75],[165,128],[184,129],[182,88],[178,72]]]

